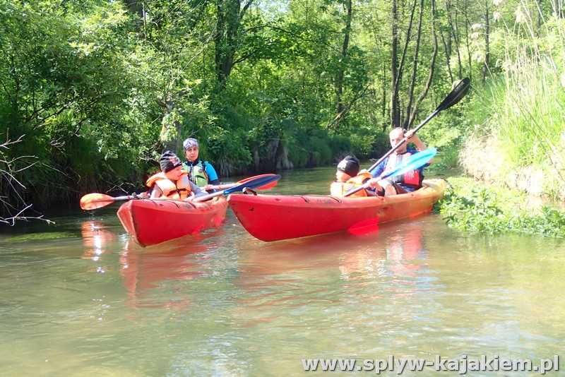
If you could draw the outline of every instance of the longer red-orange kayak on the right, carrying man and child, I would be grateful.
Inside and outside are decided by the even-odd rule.
[[[227,201],[247,232],[262,241],[375,228],[432,211],[446,181],[428,179],[413,193],[368,198],[314,195],[231,195]]]

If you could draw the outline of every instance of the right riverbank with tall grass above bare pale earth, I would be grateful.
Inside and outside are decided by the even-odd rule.
[[[501,71],[475,83],[459,162],[494,186],[564,200],[565,20],[524,33],[532,23],[522,18],[499,35]]]

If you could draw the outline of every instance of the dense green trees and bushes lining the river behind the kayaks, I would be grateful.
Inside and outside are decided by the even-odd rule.
[[[0,0],[0,141],[22,137],[3,150],[3,213],[141,188],[189,136],[222,176],[379,155],[387,130],[422,120],[454,80],[504,71],[508,35],[537,37],[563,12],[560,0]],[[461,111],[426,136],[453,143]]]

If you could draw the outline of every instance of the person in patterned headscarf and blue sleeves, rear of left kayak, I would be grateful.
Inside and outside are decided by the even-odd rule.
[[[186,157],[186,161],[182,164],[182,169],[198,187],[206,191],[213,191],[212,186],[220,184],[220,179],[210,162],[198,158],[198,140],[187,138],[182,145],[184,147],[184,157]]]

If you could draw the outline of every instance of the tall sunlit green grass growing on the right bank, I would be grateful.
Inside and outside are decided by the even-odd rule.
[[[526,179],[542,177],[542,183],[537,184],[542,185],[543,192],[562,196],[565,193],[565,20],[552,18],[540,30],[534,30],[532,18],[525,16],[501,35],[503,70],[489,85],[478,90],[478,97],[487,109],[475,114],[480,118],[476,121],[481,122],[482,132],[475,133],[475,139],[471,138],[470,142],[486,133],[489,144],[496,145],[494,155],[503,163],[496,164],[501,171],[494,175],[501,180],[513,172],[527,170],[532,174]]]

